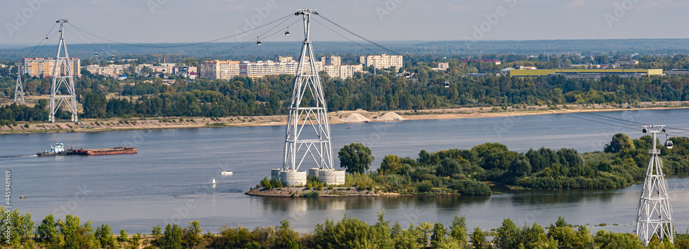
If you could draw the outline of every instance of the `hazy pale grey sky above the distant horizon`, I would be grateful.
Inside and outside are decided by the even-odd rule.
[[[114,41],[185,43],[236,34],[286,17],[297,8],[317,8],[323,17],[375,41],[689,36],[689,27],[685,25],[689,23],[686,0],[2,0],[1,6],[0,43],[25,45],[44,39],[59,18],[67,18],[76,27]],[[277,29],[298,20],[292,16]],[[327,24],[318,17],[316,21]],[[67,28],[71,30],[65,32],[65,39],[72,44],[81,43],[74,37],[76,30],[69,25]],[[264,40],[298,41],[301,28],[302,23],[298,22],[290,26],[293,35],[278,34]],[[266,30],[250,32],[240,39],[256,39]],[[314,41],[345,41],[318,23],[313,23],[312,30]]]

